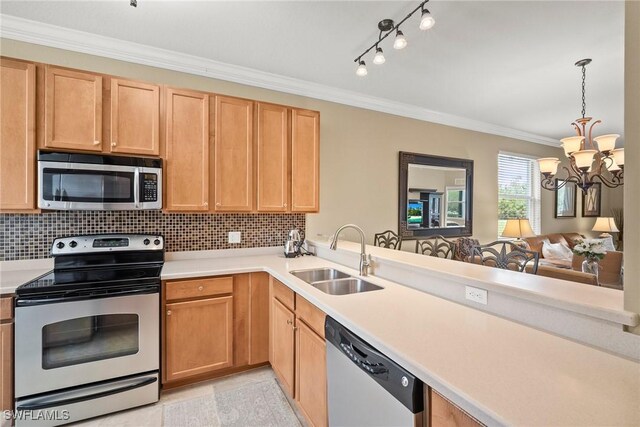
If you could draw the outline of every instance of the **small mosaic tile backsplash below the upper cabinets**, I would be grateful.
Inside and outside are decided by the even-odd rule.
[[[167,252],[282,246],[290,229],[305,229],[305,214],[165,214],[160,211],[56,211],[0,214],[0,261],[50,257],[56,237],[156,233]],[[229,231],[242,243],[229,244]]]

